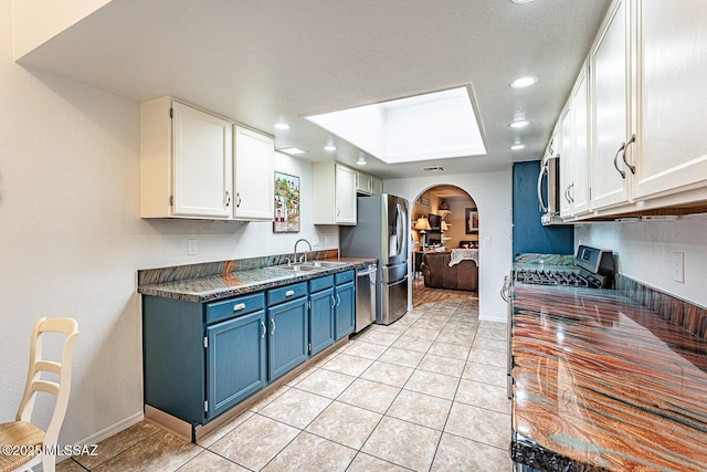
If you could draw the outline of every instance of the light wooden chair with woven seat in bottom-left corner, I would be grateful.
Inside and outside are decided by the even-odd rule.
[[[61,363],[42,359],[42,334],[48,332],[66,336]],[[68,405],[71,356],[77,334],[78,324],[72,318],[40,318],[34,323],[30,345],[30,369],[15,421],[0,424],[0,444],[14,449],[10,454],[6,454],[7,447],[2,448],[0,472],[29,471],[40,463],[44,472],[54,472],[56,463],[54,449]],[[59,376],[59,380],[42,379],[42,373],[54,374]],[[46,432],[31,422],[32,409],[39,391],[56,397],[54,412],[46,427]],[[28,451],[38,451],[39,453],[28,454]]]

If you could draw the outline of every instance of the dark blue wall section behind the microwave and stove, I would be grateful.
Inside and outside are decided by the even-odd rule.
[[[537,252],[542,254],[573,254],[574,227],[540,223],[538,204],[538,175],[540,161],[513,165],[513,254]],[[547,181],[547,179],[546,179]],[[544,182],[547,195],[547,182]]]

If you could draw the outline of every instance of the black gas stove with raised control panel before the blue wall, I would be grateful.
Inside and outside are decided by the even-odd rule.
[[[574,258],[574,266],[559,270],[516,269],[513,273],[513,282],[514,284],[611,289],[613,273],[612,251],[580,245]]]

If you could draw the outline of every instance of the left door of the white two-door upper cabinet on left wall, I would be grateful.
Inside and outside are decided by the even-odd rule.
[[[230,218],[231,123],[179,102],[172,111],[173,214]]]

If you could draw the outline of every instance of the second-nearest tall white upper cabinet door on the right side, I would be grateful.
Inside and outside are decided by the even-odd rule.
[[[621,0],[613,6],[591,52],[593,210],[629,200],[630,179],[623,164],[630,129],[626,1]]]

